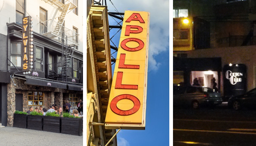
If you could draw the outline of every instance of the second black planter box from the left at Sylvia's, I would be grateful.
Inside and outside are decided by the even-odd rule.
[[[43,116],[27,115],[27,128],[32,130],[43,130]]]

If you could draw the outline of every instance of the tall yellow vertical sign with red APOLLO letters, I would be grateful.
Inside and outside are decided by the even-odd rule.
[[[125,11],[105,119],[107,129],[144,130],[149,13]]]

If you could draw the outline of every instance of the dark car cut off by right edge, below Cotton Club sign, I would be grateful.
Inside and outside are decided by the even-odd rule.
[[[246,92],[243,95],[230,97],[227,105],[235,110],[240,110],[242,107],[255,108],[256,106],[256,88]]]

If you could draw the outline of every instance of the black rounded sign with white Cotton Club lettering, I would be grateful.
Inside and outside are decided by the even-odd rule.
[[[223,66],[223,94],[237,96],[246,92],[246,66],[233,64]]]

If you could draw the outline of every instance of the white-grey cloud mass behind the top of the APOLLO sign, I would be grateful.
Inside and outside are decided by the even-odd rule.
[[[150,12],[149,70],[157,70],[161,61],[155,57],[169,50],[169,0],[111,0],[119,12]],[[109,12],[116,12],[108,1]],[[169,52],[168,52],[169,54]]]

